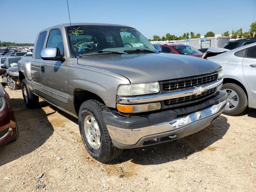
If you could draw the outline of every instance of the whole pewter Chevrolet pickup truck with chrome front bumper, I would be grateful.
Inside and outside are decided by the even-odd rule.
[[[47,28],[32,58],[19,62],[26,106],[40,97],[78,118],[84,145],[100,162],[210,125],[227,102],[222,76],[219,64],[160,53],[135,28],[114,24]]]

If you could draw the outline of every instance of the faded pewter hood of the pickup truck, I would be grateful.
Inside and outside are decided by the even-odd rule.
[[[196,76],[216,71],[219,64],[178,54],[122,54],[78,58],[78,64],[125,76],[131,83],[144,83]]]

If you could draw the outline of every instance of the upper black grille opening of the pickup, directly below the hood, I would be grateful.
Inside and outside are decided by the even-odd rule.
[[[216,81],[217,78],[218,78],[218,73],[212,73],[204,76],[197,76],[192,78],[163,82],[162,86],[164,91],[178,90],[182,88],[188,88],[192,86],[210,83],[210,82]]]

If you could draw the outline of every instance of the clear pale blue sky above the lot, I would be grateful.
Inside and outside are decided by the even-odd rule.
[[[248,31],[256,22],[256,0],[68,0],[71,22],[132,26],[147,38],[193,31]],[[1,0],[0,40],[34,43],[37,33],[68,23],[66,0]]]

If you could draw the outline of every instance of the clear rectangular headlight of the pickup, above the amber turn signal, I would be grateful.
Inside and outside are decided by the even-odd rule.
[[[158,93],[159,82],[120,85],[117,89],[118,96],[136,96]]]

